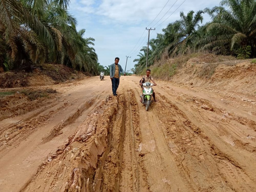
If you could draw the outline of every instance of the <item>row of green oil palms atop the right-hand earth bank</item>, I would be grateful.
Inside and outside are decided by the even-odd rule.
[[[203,13],[208,13],[211,21],[199,25],[202,23]],[[179,20],[169,23],[162,30],[163,33],[150,40],[148,66],[152,68],[150,66],[156,61],[159,63],[169,57],[202,51],[235,56],[238,59],[255,58],[255,15],[256,0],[223,0],[219,6],[205,8],[196,13],[193,10],[187,14],[180,12]],[[145,70],[147,47],[142,47],[140,51],[138,58],[134,59],[134,62],[137,62],[137,74]],[[162,68],[165,66],[161,65],[161,70]],[[171,70],[170,75],[174,74],[173,71],[175,70]],[[154,69],[153,73],[157,75],[157,69]]]

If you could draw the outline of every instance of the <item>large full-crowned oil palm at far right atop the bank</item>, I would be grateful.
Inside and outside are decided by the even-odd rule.
[[[202,39],[204,48],[226,47],[238,49],[250,46],[252,56],[256,45],[256,1],[255,0],[223,0],[220,6],[206,8],[212,17],[207,27],[209,36]]]

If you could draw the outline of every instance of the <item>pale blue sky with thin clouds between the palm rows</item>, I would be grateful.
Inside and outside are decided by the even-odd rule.
[[[131,58],[128,59],[126,67],[126,70],[129,70],[134,67],[133,59],[137,58],[136,55],[141,47],[147,45],[148,33],[145,30],[146,27],[156,27],[156,30],[151,31],[150,34],[150,38],[155,38],[156,33],[162,33],[162,28],[165,28],[168,23],[180,18],[180,11],[185,14],[189,10],[197,12],[205,7],[219,5],[220,2],[216,0],[186,0],[185,2],[184,0],[177,0],[175,3],[176,0],[169,0],[167,3],[167,1],[70,0],[69,11],[78,20],[77,29],[84,28],[86,29],[85,37],[95,38],[94,48],[101,65],[108,66],[114,63],[115,57],[119,57],[119,64],[124,69],[125,56],[129,54]],[[165,4],[166,6],[164,7]],[[149,25],[163,7],[162,12]],[[177,10],[175,11],[175,9]],[[203,14],[203,16],[203,23],[209,21],[207,14]],[[164,21],[167,17],[169,18]],[[158,22],[158,20],[160,21]],[[155,25],[155,23],[157,24]],[[138,42],[139,39],[140,41]],[[137,42],[138,44],[136,45]]]

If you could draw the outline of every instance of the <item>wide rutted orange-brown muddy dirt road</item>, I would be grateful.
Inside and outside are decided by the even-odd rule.
[[[255,101],[157,82],[146,112],[139,80],[48,86],[0,121],[0,191],[256,191]]]

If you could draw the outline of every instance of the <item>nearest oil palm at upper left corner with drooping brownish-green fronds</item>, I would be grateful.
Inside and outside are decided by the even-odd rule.
[[[45,24],[33,16],[20,1],[0,0],[0,38],[4,42],[1,48],[5,47],[6,57],[11,61],[22,55],[28,57],[23,51],[28,53],[30,48],[34,50],[36,47],[36,51],[40,52],[43,49],[41,39],[48,47],[49,57],[53,58],[55,53],[54,39]],[[24,45],[22,40],[27,44]],[[18,53],[20,49],[22,51]]]

